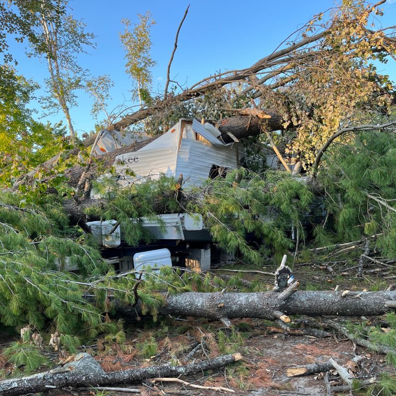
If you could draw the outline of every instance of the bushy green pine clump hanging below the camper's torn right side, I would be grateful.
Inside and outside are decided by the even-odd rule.
[[[242,178],[238,184],[237,174]],[[190,204],[189,210],[203,215],[221,248],[240,251],[253,262],[260,255],[248,246],[247,234],[261,239],[273,252],[284,254],[293,246],[287,233],[292,225],[300,228],[301,213],[313,197],[305,184],[288,174],[267,171],[259,175],[244,168],[208,181],[203,191],[203,201]]]

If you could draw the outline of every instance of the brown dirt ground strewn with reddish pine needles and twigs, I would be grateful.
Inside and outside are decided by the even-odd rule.
[[[246,269],[236,264],[221,266],[222,269]],[[268,271],[269,268],[261,268]],[[339,271],[340,272],[340,271]],[[219,271],[216,274],[232,273]],[[331,276],[328,271],[311,268],[307,265],[299,265],[295,268],[295,280],[300,280],[302,288],[318,287],[322,290],[335,288],[338,284],[340,290],[374,287],[383,285],[382,278],[356,278],[353,273],[350,276]],[[272,287],[272,277],[257,273],[244,273],[244,279],[254,281],[261,279],[263,284]],[[389,282],[388,282],[389,283]],[[316,285],[316,286],[315,286]],[[295,318],[296,319],[296,318]],[[300,318],[301,319],[301,318]],[[370,320],[370,318],[367,318]],[[380,320],[381,318],[373,318]],[[96,359],[107,371],[129,369],[148,365],[158,365],[161,362],[175,361],[185,364],[185,357],[189,351],[197,345],[204,335],[205,354],[216,356],[219,354],[240,352],[244,360],[242,363],[229,366],[216,371],[203,372],[189,378],[183,378],[193,384],[203,386],[226,387],[235,390],[235,395],[251,396],[317,396],[326,395],[323,375],[313,374],[308,376],[288,378],[286,371],[299,365],[327,361],[330,357],[340,364],[347,364],[356,354],[362,355],[363,359],[357,366],[350,366],[356,378],[366,379],[376,373],[389,372],[395,374],[395,367],[388,366],[384,361],[384,355],[373,353],[365,348],[357,347],[347,340],[342,334],[333,334],[324,339],[312,336],[291,336],[286,334],[274,334],[267,331],[267,321],[256,319],[240,319],[233,321],[243,333],[243,338],[233,339],[230,330],[222,327],[220,322],[208,322],[194,318],[173,318],[159,321],[156,326],[140,323],[139,327],[131,327],[128,330],[126,346],[119,348],[116,345],[106,344],[104,341],[96,346],[85,350],[96,354]],[[273,325],[273,324],[272,324]],[[331,332],[331,330],[329,330]],[[219,332],[225,338],[223,345],[214,341],[219,338]],[[5,347],[12,338],[3,335],[0,347]],[[151,340],[155,344],[155,355],[144,358],[141,351],[145,340]],[[192,359],[204,359],[205,355],[199,350]],[[56,359],[56,356],[54,356]],[[337,375],[330,377],[332,385],[341,385],[342,381]],[[146,386],[129,386],[140,388],[141,395],[201,395],[212,396],[225,394],[218,391],[197,390],[176,383],[156,383]],[[348,393],[350,394],[350,393]],[[357,394],[357,393],[352,393]],[[49,391],[48,396],[59,395],[127,395],[117,392],[78,391],[62,390]]]

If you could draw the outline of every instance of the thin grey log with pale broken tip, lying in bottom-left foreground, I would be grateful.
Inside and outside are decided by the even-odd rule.
[[[241,359],[241,354],[234,353],[185,366],[165,364],[106,373],[90,354],[80,353],[74,361],[65,364],[63,367],[28,377],[0,381],[0,395],[17,396],[66,386],[124,384],[148,378],[187,376],[224,367]]]

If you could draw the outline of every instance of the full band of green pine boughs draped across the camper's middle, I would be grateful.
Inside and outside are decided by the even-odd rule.
[[[235,183],[239,175],[242,181]],[[136,246],[151,241],[142,217],[155,219],[161,208],[166,213],[181,210],[176,199],[176,181],[161,175],[157,180],[122,187],[113,178],[102,179],[94,185],[95,194],[106,201],[104,206],[90,207],[87,214],[121,224],[125,241]],[[187,196],[198,196],[196,188],[184,189]],[[244,168],[227,173],[225,178],[208,180],[199,191],[203,197],[190,200],[184,210],[202,215],[213,240],[228,252],[239,251],[247,260],[258,262],[260,253],[247,243],[248,234],[262,240],[272,252],[284,254],[293,247],[288,237],[294,225],[303,235],[300,219],[313,198],[308,187],[283,172],[267,171],[257,174]]]

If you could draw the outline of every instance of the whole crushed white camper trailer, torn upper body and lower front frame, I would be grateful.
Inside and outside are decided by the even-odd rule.
[[[245,152],[238,141],[224,143],[220,135],[210,123],[202,124],[195,119],[181,119],[169,131],[145,147],[116,156],[114,167],[119,175],[119,183],[127,186],[139,182],[140,179],[158,178],[162,174],[175,178],[182,174],[185,185],[199,186],[209,177],[225,174],[227,169],[239,166]],[[111,143],[112,137],[106,137]],[[112,150],[113,146],[108,144],[106,148]],[[274,151],[265,147],[263,151],[266,154],[267,165],[276,167],[277,158]],[[136,267],[137,253],[148,253],[164,247],[169,249],[173,258],[184,260],[186,267],[198,271],[210,268],[211,236],[202,224],[202,216],[174,213],[158,215],[158,221],[142,221],[155,242],[138,247],[129,247],[122,243],[122,230],[118,230],[115,237],[106,235],[108,228],[113,227],[114,221],[110,220],[100,225],[98,222],[90,223],[95,229],[94,234],[102,232],[98,240],[102,241],[102,246],[105,247],[102,250],[103,257],[116,265],[118,263],[120,271]],[[180,264],[180,260],[178,263]]]

